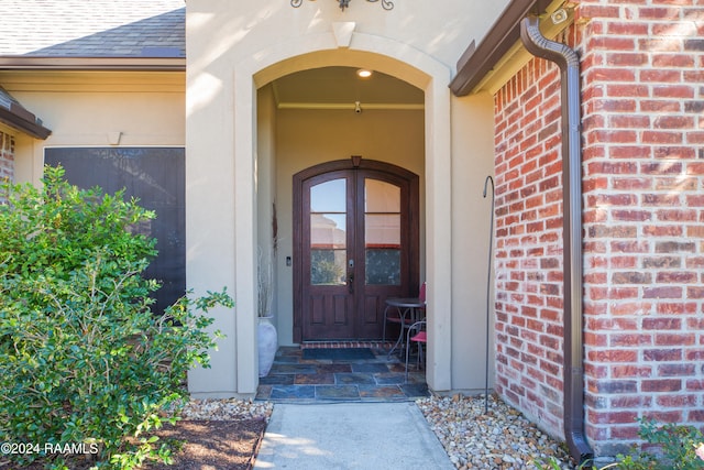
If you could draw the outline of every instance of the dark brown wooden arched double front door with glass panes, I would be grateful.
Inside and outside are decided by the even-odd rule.
[[[378,339],[385,299],[418,288],[418,178],[332,162],[295,182],[295,340]]]

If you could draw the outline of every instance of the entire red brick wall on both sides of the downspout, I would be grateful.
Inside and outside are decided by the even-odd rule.
[[[585,0],[582,59],[586,431],[704,426],[704,6]],[[497,391],[562,436],[559,70],[495,97]]]

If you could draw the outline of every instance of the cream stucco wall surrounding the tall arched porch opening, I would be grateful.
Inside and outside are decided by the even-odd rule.
[[[285,0],[240,0],[237,4],[229,0],[188,1],[186,171],[188,207],[198,208],[189,210],[187,220],[188,278],[196,288],[231,286],[237,302],[234,311],[218,317],[221,329],[233,334],[227,351],[213,357],[212,370],[191,374],[193,392],[256,391],[254,273],[258,240],[253,228],[263,226],[255,197],[261,182],[254,177],[256,147],[261,145],[254,124],[257,88],[293,72],[333,65],[371,67],[425,92],[424,167],[418,173],[425,177],[425,277],[432,316],[427,379],[438,391],[483,386],[483,374],[476,378],[474,370],[461,365],[464,360],[474,360],[464,356],[468,350],[461,345],[483,337],[468,334],[477,329],[474,316],[484,317],[485,294],[480,297],[466,286],[485,286],[485,263],[479,264],[476,256],[464,262],[453,250],[476,254],[471,247],[481,247],[479,238],[486,239],[488,231],[488,220],[466,216],[466,204],[471,203],[465,196],[471,192],[469,184],[477,184],[481,190],[486,171],[493,167],[493,109],[485,98],[453,99],[448,85],[465,47],[472,40],[481,40],[506,4],[397,0],[394,10],[384,11],[380,3],[354,0],[341,12],[337,2],[322,0],[304,0],[298,9]],[[341,23],[353,30],[349,41],[334,34]],[[276,125],[285,119],[279,111]],[[279,130],[278,135],[283,134]],[[341,155],[330,160],[351,154],[343,152],[343,146],[339,149]],[[466,149],[473,150],[469,156],[463,152]],[[294,168],[283,172],[290,162],[282,157],[285,146],[278,140],[276,153],[276,195],[280,197],[286,193],[282,178]],[[374,157],[373,151],[359,153]],[[482,165],[474,164],[479,161]],[[472,177],[463,179],[454,166]],[[290,216],[282,208],[278,217],[279,229],[285,230],[284,219]],[[282,300],[290,295],[287,282],[283,282],[287,275],[282,269],[285,256],[279,254],[278,264]],[[458,289],[471,294],[455,294]],[[465,310],[472,316],[460,317]],[[279,318],[285,343],[290,339],[287,315]],[[226,384],[233,386],[223,389]]]

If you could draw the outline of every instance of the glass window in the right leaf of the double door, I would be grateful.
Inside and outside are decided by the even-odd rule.
[[[364,182],[365,283],[400,285],[400,188]]]

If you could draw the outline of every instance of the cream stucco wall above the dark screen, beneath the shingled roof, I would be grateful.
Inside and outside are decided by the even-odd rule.
[[[15,178],[38,183],[46,146],[183,146],[185,74],[0,72],[0,84],[52,130],[15,142]]]

